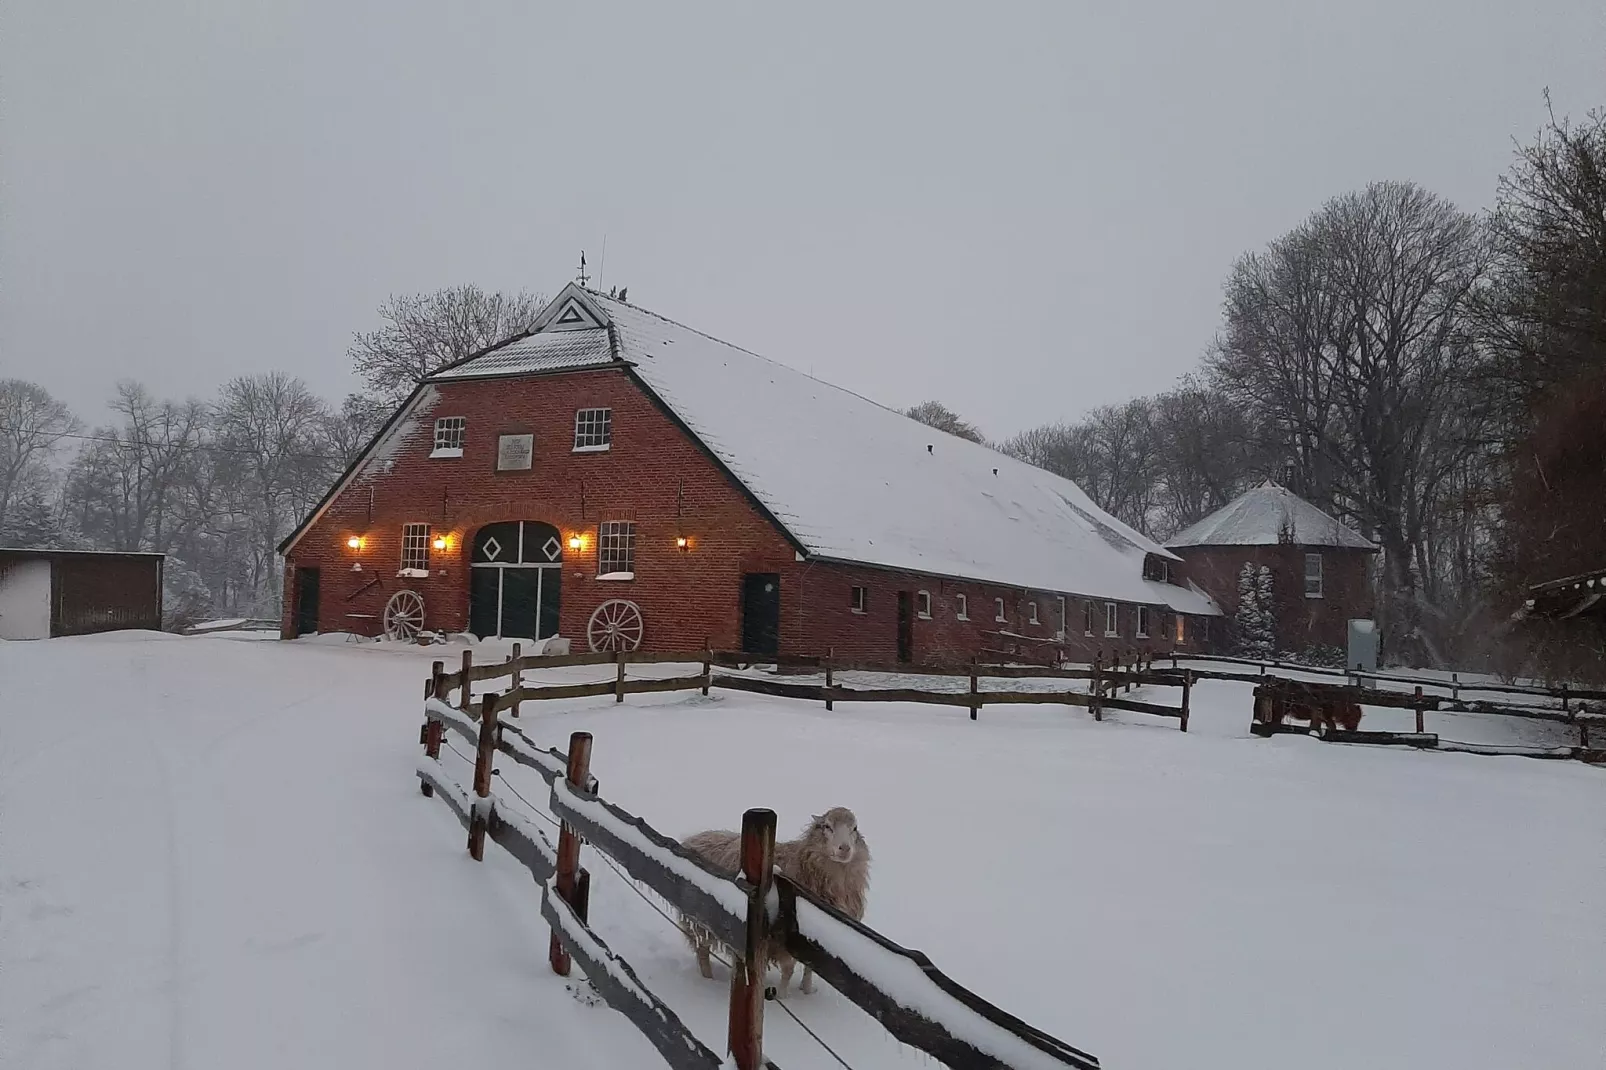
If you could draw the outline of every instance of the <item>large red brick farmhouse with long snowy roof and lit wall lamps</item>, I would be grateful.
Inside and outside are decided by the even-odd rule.
[[[279,551],[286,636],[930,662],[1201,649],[1219,615],[1076,484],[573,284]]]

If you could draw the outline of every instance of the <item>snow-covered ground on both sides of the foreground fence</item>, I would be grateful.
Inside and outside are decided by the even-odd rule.
[[[434,657],[458,652],[0,643],[0,1064],[662,1065],[551,975],[528,874],[496,847],[469,861],[419,795]],[[1248,684],[1200,684],[1193,709],[1182,734],[1052,705],[970,723],[716,692],[536,704],[520,723],[559,747],[594,733],[602,794],[675,835],[755,805],[793,834],[853,807],[867,922],[1107,1070],[1601,1065],[1606,771],[1251,739]],[[1487,717],[1428,729],[1574,742]],[[724,972],[703,982],[585,858],[599,935],[723,1051]],[[930,1065],[829,986],[792,1006],[856,1070]],[[787,1070],[837,1065],[776,1012],[766,1048]]]

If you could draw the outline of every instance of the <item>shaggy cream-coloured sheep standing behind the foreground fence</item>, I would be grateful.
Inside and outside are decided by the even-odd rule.
[[[740,832],[710,829],[687,835],[681,840],[681,847],[721,872],[736,874],[742,868]],[[776,871],[848,917],[864,921],[864,905],[870,884],[870,847],[859,832],[859,819],[846,807],[834,807],[816,815],[798,839],[776,843]],[[697,970],[711,978],[710,954],[715,946],[724,948],[724,945],[684,914],[681,914],[681,932],[686,933],[686,940],[697,953]],[[785,998],[792,986],[797,961],[779,940],[772,940],[766,948],[768,964],[781,967],[779,996]],[[814,991],[814,972],[806,964],[800,990],[805,994]]]

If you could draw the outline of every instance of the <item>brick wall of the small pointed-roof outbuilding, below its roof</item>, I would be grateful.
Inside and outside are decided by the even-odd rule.
[[[1322,598],[1306,598],[1304,556],[1322,554]],[[1246,562],[1272,570],[1278,649],[1349,644],[1349,620],[1376,611],[1372,553],[1331,546],[1184,546],[1187,575],[1216,599],[1230,627],[1238,612],[1238,572]]]

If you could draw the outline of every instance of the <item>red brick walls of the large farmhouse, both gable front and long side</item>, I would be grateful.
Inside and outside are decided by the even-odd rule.
[[[573,451],[575,411],[612,408],[613,440],[604,453]],[[461,458],[430,458],[438,416],[467,419]],[[546,378],[440,384],[408,421],[393,448],[382,448],[287,554],[283,633],[296,633],[300,570],[320,569],[318,623],[323,631],[376,635],[392,594],[408,588],[426,602],[426,627],[463,631],[469,620],[469,554],[474,533],[499,521],[543,521],[564,537],[559,633],[586,643],[591,612],[626,598],[646,619],[644,644],[689,651],[711,643],[740,646],[742,577],[781,577],[781,651],[891,662],[898,654],[898,591],[930,591],[930,619],[914,620],[914,660],[962,660],[1012,649],[1046,655],[1055,647],[1078,660],[1103,649],[1169,651],[1171,614],[1152,609],[1150,636],[1134,635],[1135,606],[1121,606],[1121,635],[1103,635],[1097,602],[1094,636],[1082,635],[1082,602],[1066,598],[1070,633],[1057,643],[1058,598],[986,583],[899,575],[880,569],[798,562],[795,548],[658,405],[623,371],[583,371]],[[532,434],[528,471],[498,472],[496,440]],[[800,461],[803,463],[803,461]],[[599,580],[597,524],[636,524],[636,578]],[[398,577],[402,529],[429,524],[445,535],[430,549],[427,577]],[[580,533],[585,545],[570,551]],[[676,537],[689,548],[681,551]],[[353,551],[347,540],[358,537]],[[353,570],[353,566],[361,566]],[[864,614],[851,611],[851,588],[867,588]],[[957,619],[956,594],[968,598],[968,620]],[[996,598],[1005,622],[996,620]],[[1029,604],[1037,604],[1031,622]],[[912,606],[914,607],[914,606]],[[999,633],[1012,633],[1001,636]],[[1182,649],[1198,647],[1198,630]],[[1033,643],[1041,639],[1042,643]]]

